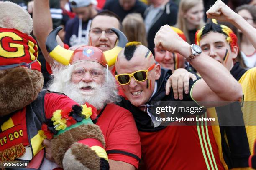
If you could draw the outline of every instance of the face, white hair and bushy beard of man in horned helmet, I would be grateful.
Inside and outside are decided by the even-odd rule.
[[[104,107],[106,103],[115,103],[119,100],[117,89],[115,86],[115,79],[111,75],[108,75],[109,71],[105,69],[100,69],[102,72],[100,74],[104,75],[104,78],[108,76],[108,81],[103,81],[103,83],[96,83],[95,81],[90,81],[87,77],[82,77],[83,81],[77,81],[75,79],[81,78],[85,75],[82,65],[97,65],[97,63],[92,61],[82,61],[77,62],[76,64],[70,65],[69,67],[61,67],[61,69],[53,70],[54,79],[49,85],[49,90],[58,91],[66,94],[69,98],[73,99],[77,103],[88,102],[92,104],[97,110],[100,110]],[[70,73],[74,72],[84,72],[84,75],[74,74],[74,78]],[[95,69],[96,70],[96,69]],[[95,71],[93,70],[93,71]],[[92,80],[94,77],[97,77],[92,74],[97,74],[96,72],[90,73]],[[78,77],[77,77],[78,76]]]

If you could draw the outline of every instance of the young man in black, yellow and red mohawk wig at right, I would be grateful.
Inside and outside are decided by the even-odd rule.
[[[252,103],[256,101],[256,68],[245,70],[240,67],[239,62],[233,62],[238,54],[237,37],[230,28],[217,24],[216,20],[212,20],[196,32],[195,42],[200,45],[203,53],[220,62],[242,85],[244,96],[241,119],[246,127],[220,126],[221,136],[216,139],[222,140],[222,146],[219,147],[223,150],[223,158],[229,169],[248,167],[248,157],[250,151],[253,153],[253,143],[256,139],[255,104]],[[216,112],[218,117],[223,113],[220,109],[216,109]],[[236,109],[233,113],[238,115],[239,112]],[[224,135],[227,135],[229,144],[226,143]],[[238,146],[242,149],[238,149]]]

